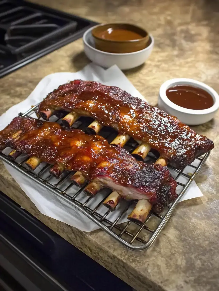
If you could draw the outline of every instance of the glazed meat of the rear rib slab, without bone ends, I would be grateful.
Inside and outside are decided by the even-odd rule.
[[[74,80],[61,85],[41,102],[38,114],[50,109],[88,115],[120,133],[149,143],[178,169],[211,150],[213,142],[163,110],[151,106],[118,87]]]

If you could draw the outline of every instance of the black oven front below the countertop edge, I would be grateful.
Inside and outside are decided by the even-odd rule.
[[[7,291],[132,290],[0,191],[2,287]]]

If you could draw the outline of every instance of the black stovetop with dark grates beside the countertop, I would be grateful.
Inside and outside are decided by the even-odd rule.
[[[23,0],[0,1],[0,77],[80,38],[95,24]]]

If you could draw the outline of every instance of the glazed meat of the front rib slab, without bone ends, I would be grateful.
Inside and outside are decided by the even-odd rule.
[[[88,180],[115,189],[127,200],[148,199],[156,212],[177,197],[177,184],[167,167],[137,162],[127,150],[79,129],[16,117],[0,132],[0,147],[6,146],[69,171],[82,171]]]

